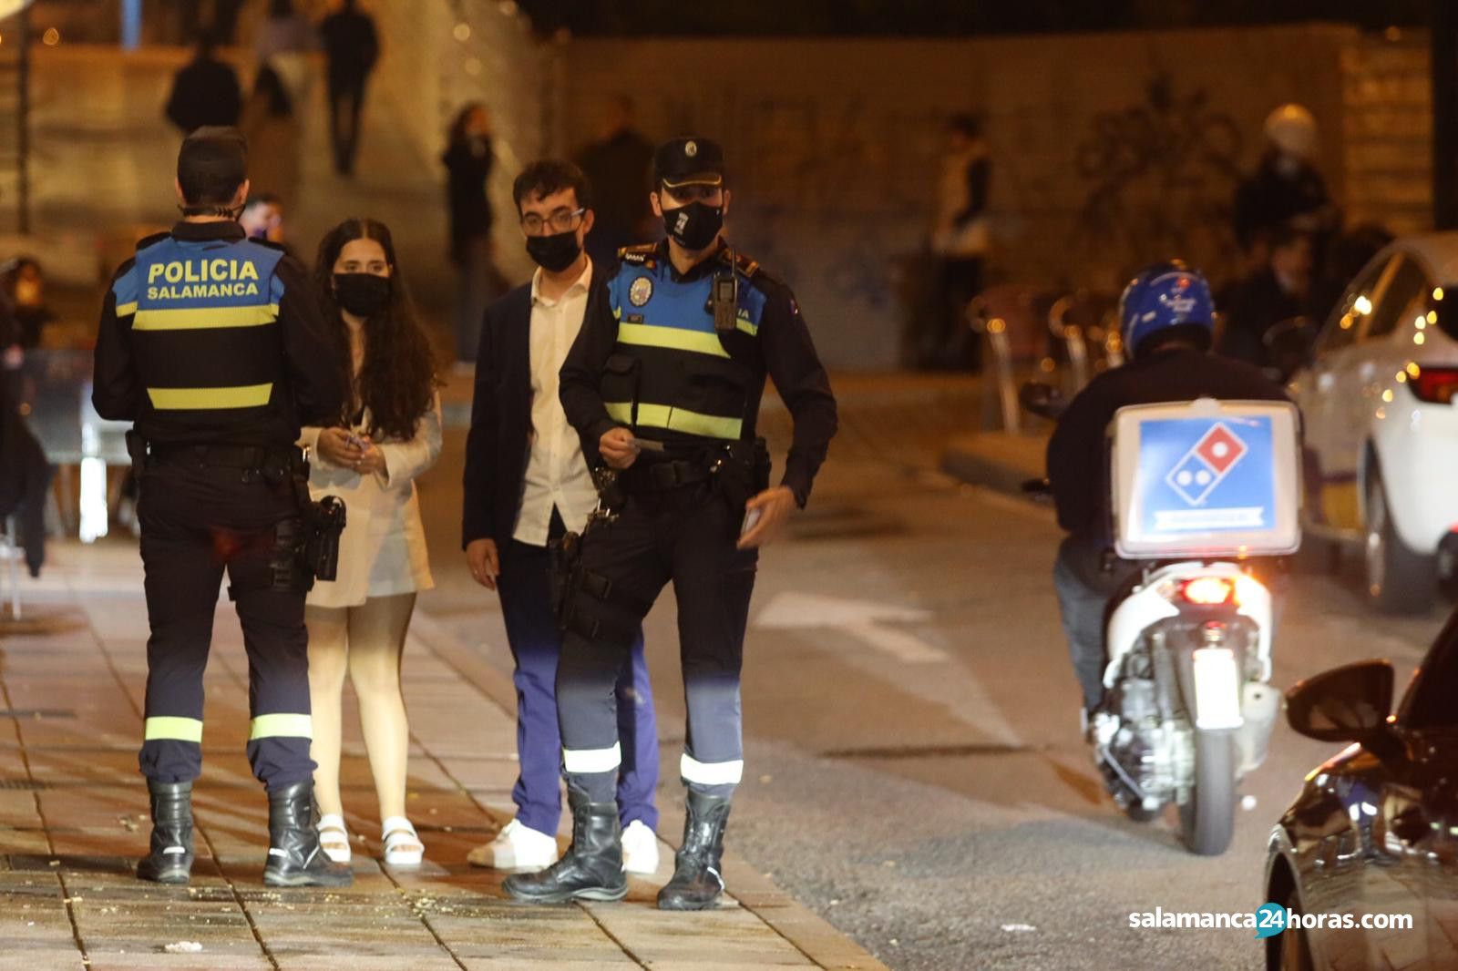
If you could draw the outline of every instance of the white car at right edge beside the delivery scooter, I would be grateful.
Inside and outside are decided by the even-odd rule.
[[[1451,289],[1451,295],[1445,295]],[[1445,299],[1446,297],[1446,299]],[[1406,236],[1357,274],[1290,382],[1303,531],[1360,544],[1375,607],[1427,609],[1458,553],[1458,233]]]

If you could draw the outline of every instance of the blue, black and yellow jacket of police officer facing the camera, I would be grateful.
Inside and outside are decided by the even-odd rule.
[[[589,462],[618,426],[669,452],[755,434],[765,376],[795,434],[781,484],[803,506],[835,434],[835,398],[790,289],[728,248],[679,274],[668,242],[620,251],[605,289],[588,300],[561,369],[561,404]],[[717,332],[716,276],[739,277],[735,329]]]

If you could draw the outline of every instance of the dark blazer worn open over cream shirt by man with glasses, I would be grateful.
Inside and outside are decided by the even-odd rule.
[[[465,440],[461,548],[474,539],[494,539],[504,548],[516,529],[532,430],[531,329],[529,283],[486,308]]]

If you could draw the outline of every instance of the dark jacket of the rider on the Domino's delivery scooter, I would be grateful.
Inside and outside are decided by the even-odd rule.
[[[1079,392],[1048,440],[1048,480],[1059,525],[1075,538],[1108,542],[1105,433],[1124,405],[1162,401],[1287,401],[1257,367],[1194,348],[1153,351],[1107,370]]]

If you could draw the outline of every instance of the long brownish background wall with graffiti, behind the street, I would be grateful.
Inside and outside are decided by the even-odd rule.
[[[999,277],[1117,286],[1184,252],[1232,265],[1228,206],[1283,101],[1312,108],[1344,185],[1343,52],[1354,29],[986,41],[573,41],[566,117],[592,133],[630,90],[650,137],[726,143],[739,245],[796,287],[825,357],[897,357],[897,258],[924,239],[940,121],[987,117]]]

